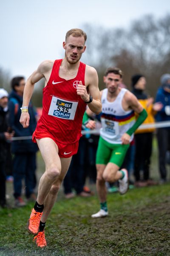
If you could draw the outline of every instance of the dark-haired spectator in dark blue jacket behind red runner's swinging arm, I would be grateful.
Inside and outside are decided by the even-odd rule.
[[[9,95],[9,124],[15,131],[14,137],[30,137],[27,140],[14,140],[11,151],[14,154],[13,175],[14,175],[14,197],[15,206],[26,205],[21,197],[22,180],[25,179],[25,194],[27,199],[34,197],[35,171],[36,171],[36,152],[37,145],[32,142],[31,136],[36,128],[36,112],[33,105],[29,104],[30,125],[24,129],[20,124],[20,108],[23,104],[23,91],[25,87],[23,76],[14,77],[11,80],[12,91]],[[34,198],[32,198],[34,199]]]

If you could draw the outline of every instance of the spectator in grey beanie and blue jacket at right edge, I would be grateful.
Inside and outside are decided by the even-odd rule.
[[[170,121],[170,74],[161,76],[161,87],[156,94],[156,102],[161,102],[163,108],[156,114],[156,121]],[[161,176],[160,183],[167,181],[166,170],[166,152],[170,147],[170,127],[158,128],[157,139],[159,147],[159,172]]]

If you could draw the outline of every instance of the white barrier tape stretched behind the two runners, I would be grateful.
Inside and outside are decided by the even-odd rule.
[[[170,127],[170,121],[156,122],[154,124],[140,125],[138,130],[147,129],[147,128],[165,128],[165,127]],[[100,133],[100,129],[83,130],[82,131],[82,135],[85,135],[85,134],[99,135],[99,133]],[[32,140],[32,136],[13,137],[12,140]]]

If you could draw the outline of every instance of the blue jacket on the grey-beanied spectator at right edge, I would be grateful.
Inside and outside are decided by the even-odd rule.
[[[161,111],[158,111],[155,116],[156,121],[170,121],[170,116],[167,116],[165,113],[165,106],[170,106],[170,93],[166,92],[163,87],[159,87],[156,94],[156,102],[161,102],[163,104],[163,108]]]

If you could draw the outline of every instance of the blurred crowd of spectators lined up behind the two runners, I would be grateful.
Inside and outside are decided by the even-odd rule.
[[[131,91],[147,111],[144,126],[134,135],[127,151],[123,168],[130,177],[130,188],[159,185],[168,182],[167,164],[170,163],[170,73],[160,77],[156,97],[148,95],[147,80],[143,74],[134,74],[131,78]],[[0,206],[8,207],[6,183],[13,183],[14,207],[23,207],[36,199],[37,185],[37,144],[31,136],[40,118],[41,109],[29,104],[30,125],[23,128],[20,124],[20,108],[23,103],[23,91],[26,81],[23,76],[11,79],[9,93],[0,88]],[[120,87],[127,87],[124,82]],[[79,150],[73,156],[71,166],[65,176],[63,189],[65,198],[76,195],[89,197],[94,192],[89,184],[96,183],[96,149],[99,140],[100,115],[94,115],[95,132],[82,125]],[[156,125],[155,125],[156,124]],[[155,128],[157,127],[157,128]],[[150,177],[150,164],[153,137],[157,138],[159,179]],[[88,186],[87,186],[88,185]],[[118,184],[106,183],[109,192],[117,192]]]

